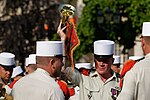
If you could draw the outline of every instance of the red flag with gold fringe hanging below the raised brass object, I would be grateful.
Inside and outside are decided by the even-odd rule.
[[[65,40],[65,51],[70,60],[72,68],[74,68],[73,51],[80,44],[80,40],[78,39],[76,32],[75,22],[75,18],[69,19]]]

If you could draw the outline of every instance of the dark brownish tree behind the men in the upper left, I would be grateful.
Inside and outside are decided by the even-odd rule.
[[[59,2],[52,0],[4,0],[0,15],[1,51],[12,52],[24,65],[35,53],[36,41],[53,40],[60,19]]]

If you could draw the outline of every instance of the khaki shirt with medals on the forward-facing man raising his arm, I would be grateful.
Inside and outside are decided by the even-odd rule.
[[[80,100],[114,100],[114,90],[119,87],[115,74],[104,83],[97,71],[89,76],[79,73],[77,70],[72,75],[72,82],[80,87]]]

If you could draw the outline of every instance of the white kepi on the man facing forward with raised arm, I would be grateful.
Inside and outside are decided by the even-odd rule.
[[[109,58],[114,54],[114,42],[110,40],[98,40],[94,42],[94,57]]]

